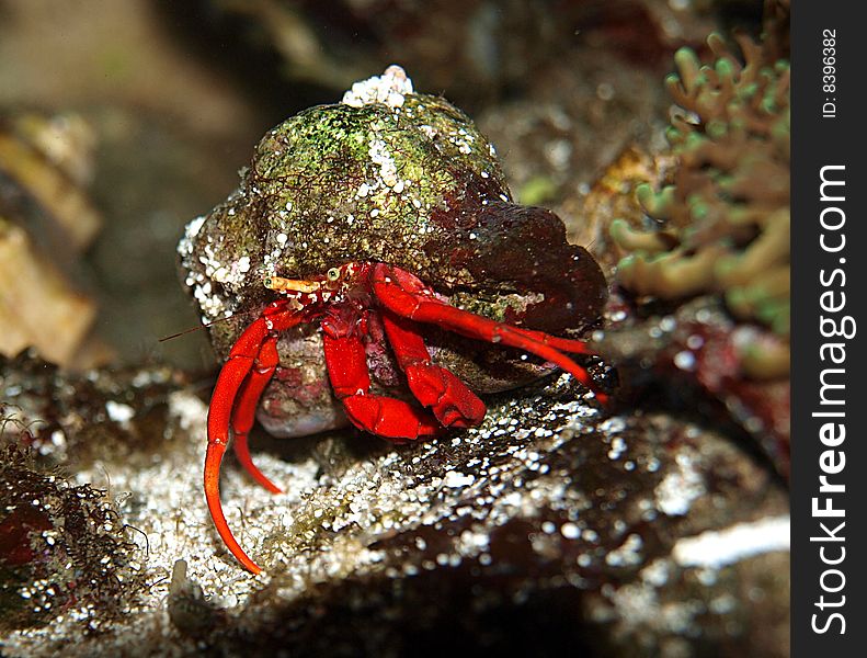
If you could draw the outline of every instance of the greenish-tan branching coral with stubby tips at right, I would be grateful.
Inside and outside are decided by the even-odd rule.
[[[779,39],[735,41],[743,64],[717,34],[708,37],[712,65],[689,48],[675,55],[678,73],[666,84],[681,112],[666,136],[677,164],[658,191],[636,189],[658,224],[615,220],[611,235],[628,252],[617,268],[626,290],[663,299],[717,294],[737,318],[768,327],[775,367],[755,350],[742,363],[746,374],[773,376],[788,360],[789,65],[775,59]]]

